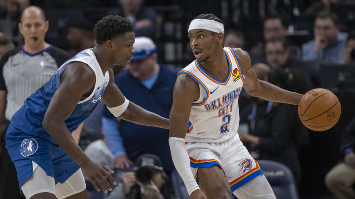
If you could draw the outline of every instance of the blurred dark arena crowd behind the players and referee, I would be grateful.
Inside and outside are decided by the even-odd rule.
[[[355,197],[355,0],[0,0],[0,56],[24,45],[18,24],[30,5],[45,12],[49,22],[45,42],[71,57],[93,47],[93,28],[102,17],[127,17],[136,37],[142,38],[134,46],[142,56],[127,69],[117,68],[115,82],[129,100],[165,117],[177,71],[194,60],[188,25],[199,14],[213,13],[224,23],[224,46],[247,51],[259,79],[299,93],[326,88],[342,105],[342,115],[332,129],[313,132],[301,124],[297,107],[242,92],[239,133],[251,155],[287,166],[300,199],[343,198],[336,194],[339,184],[334,182],[342,174],[333,171],[345,161],[351,179],[343,186],[348,189],[340,192]],[[137,171],[140,156],[146,153],[161,159],[153,165],[163,167],[164,183],[175,186],[177,173],[167,139],[166,130],[112,118],[101,103],[85,121],[79,145],[94,160],[116,169],[122,194],[129,197],[127,184],[132,187],[135,181],[130,171]],[[152,159],[158,161],[157,157]],[[161,190],[165,198],[169,198],[167,190]],[[176,187],[173,190],[172,195],[183,198],[177,196]],[[93,193],[94,197],[110,196]]]

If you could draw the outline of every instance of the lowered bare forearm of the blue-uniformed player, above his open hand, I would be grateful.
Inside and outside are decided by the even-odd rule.
[[[43,128],[53,138],[53,140],[76,162],[80,167],[90,161],[84,151],[77,145],[64,120],[50,118],[44,119]]]

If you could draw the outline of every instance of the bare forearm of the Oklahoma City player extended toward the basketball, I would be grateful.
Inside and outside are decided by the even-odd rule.
[[[257,86],[257,89],[254,89],[248,93],[254,97],[259,97],[267,101],[280,102],[292,105],[298,105],[303,97],[302,94],[284,90],[276,85],[272,85],[268,82],[261,80],[259,80],[259,85]]]

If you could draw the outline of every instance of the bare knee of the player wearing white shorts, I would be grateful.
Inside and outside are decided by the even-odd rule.
[[[200,189],[208,199],[232,199],[229,183],[219,166],[198,168],[197,176]]]

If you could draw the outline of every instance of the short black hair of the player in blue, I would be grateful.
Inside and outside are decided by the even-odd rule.
[[[95,25],[94,37],[96,43],[101,45],[107,40],[133,32],[133,30],[133,25],[128,19],[118,15],[108,15]]]

